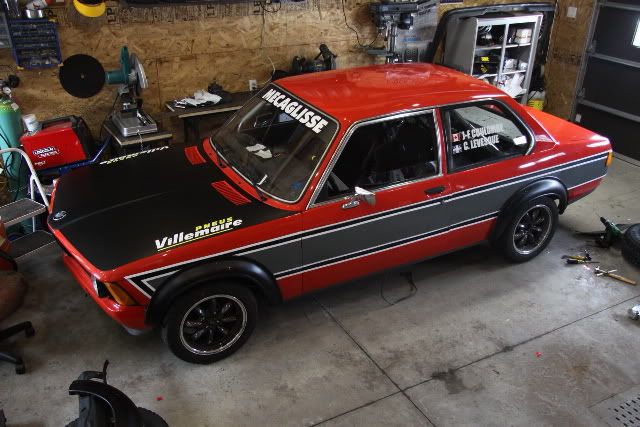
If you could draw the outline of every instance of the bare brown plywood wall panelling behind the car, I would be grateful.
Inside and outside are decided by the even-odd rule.
[[[466,0],[443,5],[439,12],[497,2],[508,3]],[[578,71],[576,58],[582,55],[593,0],[558,3],[547,67],[548,110],[567,117]],[[115,2],[108,5],[107,14],[98,19],[82,17],[70,5],[54,9],[63,57],[85,53],[98,58],[105,68],[115,69],[120,47],[128,45],[143,59],[150,81],[144,93],[145,109],[156,117],[166,101],[206,88],[213,80],[230,91],[246,90],[249,79],[264,82],[271,73],[271,62],[287,70],[293,56],[315,56],[319,43],[327,43],[338,54],[340,68],[373,62],[346,27],[341,0],[287,3],[277,13],[263,13],[259,3],[144,9],[122,8]],[[577,19],[566,17],[569,5],[578,6]],[[368,0],[345,0],[345,12],[361,42],[371,41],[375,28]],[[13,64],[8,51],[0,52],[0,64]],[[36,113],[40,119],[82,115],[94,131],[115,96],[115,88],[105,86],[93,98],[74,98],[61,88],[57,69],[20,71],[18,75],[22,84],[16,94],[24,112]]]

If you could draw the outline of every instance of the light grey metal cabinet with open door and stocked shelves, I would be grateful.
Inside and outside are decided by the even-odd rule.
[[[512,93],[512,96],[525,104],[541,24],[542,14],[472,17],[452,21],[447,27],[450,36],[445,43],[444,64],[501,89],[513,83],[512,79],[521,79],[521,90]],[[487,28],[491,29],[487,31]],[[492,36],[487,45],[480,43],[483,29]],[[518,29],[531,30],[531,42],[515,42]],[[485,65],[484,71],[480,70],[482,67],[478,64]]]

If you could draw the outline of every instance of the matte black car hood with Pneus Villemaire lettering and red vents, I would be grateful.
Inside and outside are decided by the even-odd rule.
[[[49,226],[95,267],[110,270],[292,214],[233,186],[198,148],[190,149],[198,150],[201,163],[192,164],[185,147],[176,145],[69,172],[56,187]]]

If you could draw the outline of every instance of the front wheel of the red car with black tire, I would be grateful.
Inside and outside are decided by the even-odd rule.
[[[247,287],[234,283],[198,286],[171,306],[162,325],[162,339],[186,362],[212,363],[242,347],[257,318],[258,304]]]

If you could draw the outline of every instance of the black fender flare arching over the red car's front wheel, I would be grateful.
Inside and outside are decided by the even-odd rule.
[[[196,286],[216,280],[235,280],[264,295],[269,303],[282,302],[273,275],[259,263],[242,257],[224,257],[180,270],[160,285],[147,306],[145,323],[159,325],[172,302]]]

